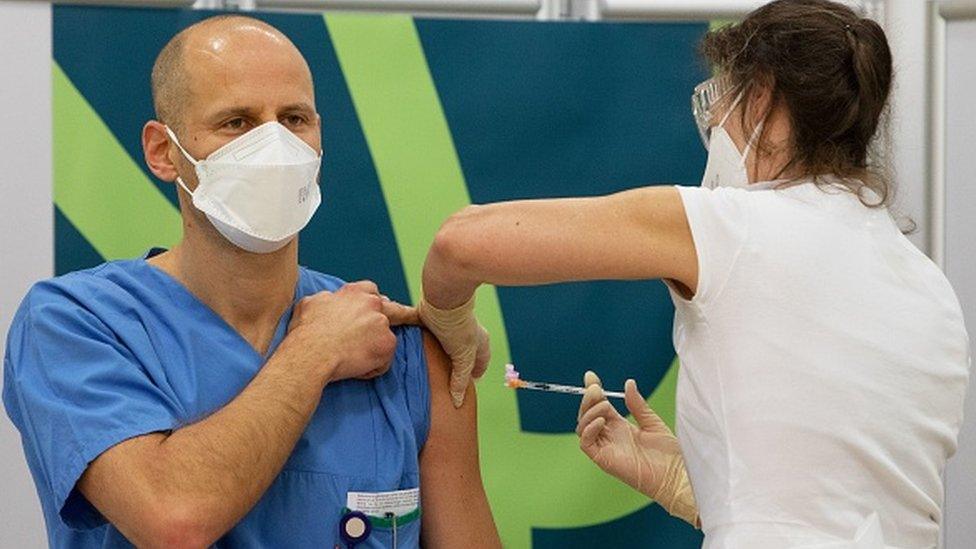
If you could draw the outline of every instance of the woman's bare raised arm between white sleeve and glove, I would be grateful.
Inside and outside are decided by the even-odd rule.
[[[424,293],[456,307],[482,283],[666,278],[693,293],[698,260],[674,187],[607,196],[469,206],[441,227],[424,265]]]

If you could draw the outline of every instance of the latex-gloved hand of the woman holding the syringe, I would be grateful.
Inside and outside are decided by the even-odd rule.
[[[637,383],[624,385],[627,421],[603,395],[600,378],[586,372],[586,394],[580,403],[576,434],[580,448],[601,469],[658,502],[668,513],[701,527],[678,439],[647,406]]]

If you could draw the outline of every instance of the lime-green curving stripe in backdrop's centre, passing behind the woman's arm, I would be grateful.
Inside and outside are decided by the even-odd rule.
[[[366,134],[393,221],[412,297],[420,293],[427,248],[443,219],[470,203],[450,130],[409,17],[325,18]],[[438,184],[418,186],[417,181]],[[483,287],[478,316],[492,334],[489,381],[479,386],[482,467],[507,547],[529,547],[532,527],[606,522],[647,499],[594,467],[572,434],[517,429],[514,393],[491,380],[509,360],[494,289]],[[651,397],[673,423],[676,366]],[[586,494],[586,497],[581,497]],[[554,505],[553,502],[559,502]]]

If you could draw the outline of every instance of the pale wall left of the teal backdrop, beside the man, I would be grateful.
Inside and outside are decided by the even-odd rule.
[[[2,349],[28,286],[54,272],[47,3],[0,1],[0,167]],[[0,487],[0,549],[44,547],[40,504],[6,414],[0,414]]]

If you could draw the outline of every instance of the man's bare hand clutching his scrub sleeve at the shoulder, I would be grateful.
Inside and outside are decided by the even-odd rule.
[[[388,303],[369,281],[308,296],[295,305],[283,345],[296,349],[327,383],[382,375],[397,343],[385,313]]]

